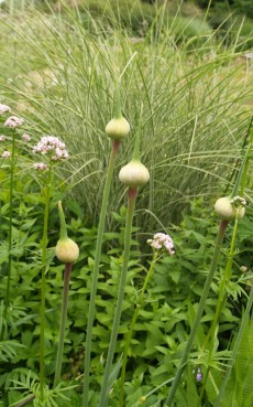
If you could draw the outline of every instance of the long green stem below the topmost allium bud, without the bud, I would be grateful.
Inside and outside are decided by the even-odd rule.
[[[102,248],[102,239],[103,239],[103,231],[105,231],[105,223],[106,223],[106,215],[107,215],[107,206],[108,206],[108,199],[110,193],[112,173],[116,164],[116,157],[117,152],[120,147],[120,141],[113,141],[111,156],[109,159],[108,164],[108,173],[107,180],[103,190],[103,197],[102,197],[102,205],[98,225],[98,238],[95,251],[95,264],[94,264],[94,272],[92,272],[92,280],[91,280],[91,289],[90,289],[90,302],[89,302],[89,313],[88,313],[88,323],[87,323],[87,334],[86,334],[86,352],[85,352],[85,374],[84,374],[84,397],[82,397],[82,405],[84,407],[89,407],[89,369],[90,369],[90,353],[91,353],[91,340],[92,340],[92,326],[94,326],[94,319],[95,319],[95,300],[97,293],[97,286],[98,286],[98,277],[99,277],[99,264],[101,258],[101,248]]]

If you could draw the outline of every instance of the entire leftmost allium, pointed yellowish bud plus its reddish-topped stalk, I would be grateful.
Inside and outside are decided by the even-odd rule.
[[[61,261],[65,263],[65,272],[64,272],[63,302],[59,323],[59,341],[56,356],[54,387],[57,386],[62,372],[70,272],[73,264],[78,259],[79,256],[79,248],[77,244],[73,239],[70,239],[67,235],[66,222],[61,201],[58,201],[58,213],[59,213],[61,232],[59,239],[55,248],[55,254]]]

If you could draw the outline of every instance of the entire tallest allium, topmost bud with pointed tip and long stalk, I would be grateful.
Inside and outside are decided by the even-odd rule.
[[[112,122],[113,120],[113,122]],[[108,172],[107,179],[103,190],[102,196],[102,205],[98,224],[98,237],[95,250],[95,263],[94,263],[94,272],[91,278],[91,289],[90,289],[90,301],[89,301],[89,311],[88,311],[88,323],[87,323],[87,333],[86,333],[86,345],[85,345],[85,366],[84,366],[84,395],[82,395],[82,406],[89,407],[89,371],[90,371],[90,355],[91,355],[91,344],[92,344],[92,326],[95,320],[96,312],[96,293],[98,287],[98,278],[99,278],[99,265],[101,259],[101,249],[102,249],[102,240],[103,240],[103,232],[105,232],[105,223],[107,216],[107,207],[109,193],[111,188],[111,180],[116,164],[116,158],[118,150],[120,148],[121,139],[128,136],[130,131],[130,126],[125,119],[123,119],[120,109],[120,94],[119,88],[116,89],[116,118],[112,119],[109,124],[110,128],[106,129],[107,135],[112,138],[112,150],[109,158],[108,163]],[[120,120],[120,124],[119,124]],[[114,122],[117,121],[117,122]],[[127,124],[125,124],[127,122]]]

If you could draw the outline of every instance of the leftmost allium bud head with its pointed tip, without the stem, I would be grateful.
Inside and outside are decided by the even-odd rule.
[[[58,212],[61,232],[59,239],[55,248],[55,254],[56,257],[63,263],[75,263],[79,256],[79,247],[73,239],[69,239],[69,237],[67,236],[66,222],[61,201],[58,201]]]

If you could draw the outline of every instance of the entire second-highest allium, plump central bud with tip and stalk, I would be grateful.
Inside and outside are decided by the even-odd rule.
[[[124,232],[124,253],[122,270],[119,282],[118,299],[114,312],[114,319],[112,324],[112,332],[109,343],[109,350],[107,355],[107,363],[103,373],[103,381],[99,398],[99,407],[106,407],[108,405],[108,397],[110,392],[110,375],[112,369],[112,361],[116,351],[116,343],[119,333],[120,318],[124,298],[124,288],[127,281],[127,274],[129,267],[129,257],[131,248],[131,234],[135,200],[138,195],[138,189],[145,185],[150,180],[148,170],[141,163],[140,160],[140,133],[142,129],[142,113],[140,115],[139,129],[135,137],[135,146],[133,152],[133,159],[129,164],[123,167],[119,173],[119,179],[123,185],[128,186],[128,212],[125,219],[125,232]]]

